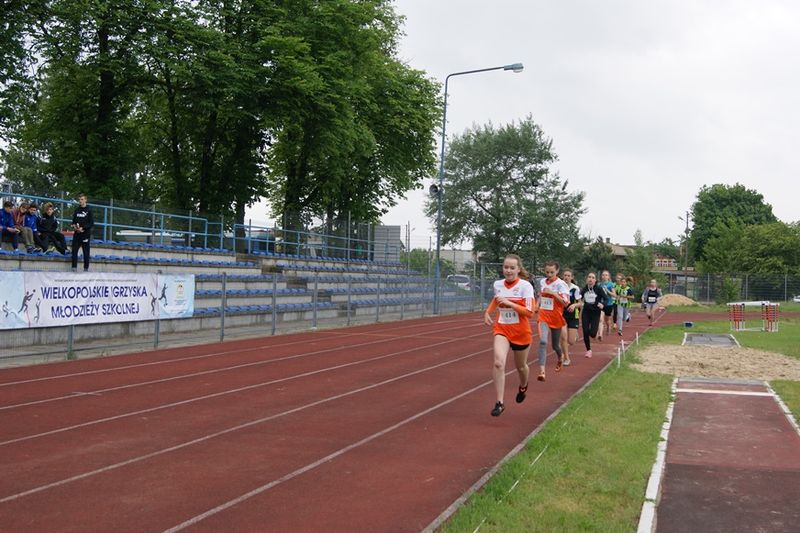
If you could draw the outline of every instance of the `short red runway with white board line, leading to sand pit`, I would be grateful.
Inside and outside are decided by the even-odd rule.
[[[798,498],[800,435],[766,386],[679,380],[659,533],[796,532]]]

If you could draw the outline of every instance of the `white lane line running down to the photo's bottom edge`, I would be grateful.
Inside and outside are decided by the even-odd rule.
[[[484,350],[484,351],[488,352],[488,351],[491,351],[491,350]],[[482,353],[482,352],[479,352],[479,353]],[[417,414],[415,414],[413,416],[410,416],[410,417],[406,418],[405,420],[402,420],[402,421],[400,421],[400,422],[398,422],[398,423],[396,423],[394,425],[391,425],[391,426],[389,426],[389,427],[387,427],[387,428],[385,428],[385,429],[383,429],[381,431],[378,431],[377,433],[373,433],[372,435],[370,435],[368,437],[365,437],[365,438],[363,438],[363,439],[361,439],[361,440],[359,440],[357,442],[354,442],[354,443],[350,444],[349,446],[345,446],[344,448],[341,448],[341,449],[339,449],[339,450],[337,450],[337,451],[335,451],[335,452],[333,452],[331,454],[328,454],[325,457],[322,457],[321,459],[318,459],[318,460],[314,461],[313,463],[309,463],[309,464],[307,464],[306,466],[304,466],[302,468],[298,468],[297,470],[295,470],[293,472],[290,472],[290,473],[286,474],[285,476],[282,476],[282,477],[280,477],[278,479],[270,481],[269,483],[267,483],[265,485],[261,485],[260,487],[258,487],[256,489],[253,489],[250,492],[247,492],[245,494],[242,494],[241,496],[239,496],[237,498],[229,500],[229,501],[227,501],[227,502],[225,502],[225,503],[223,503],[221,505],[218,505],[218,506],[214,507],[213,509],[209,509],[208,511],[206,511],[206,512],[204,512],[202,514],[199,514],[197,516],[194,516],[194,517],[190,518],[189,520],[181,522],[180,524],[165,530],[164,533],[174,533],[176,531],[180,531],[180,530],[185,529],[187,527],[193,526],[193,525],[197,524],[198,522],[201,522],[202,520],[205,520],[206,518],[208,518],[210,516],[213,516],[213,515],[215,515],[217,513],[225,511],[226,509],[230,509],[231,507],[234,507],[235,505],[238,505],[238,504],[244,502],[245,500],[249,500],[253,496],[258,496],[262,492],[266,492],[269,489],[272,489],[272,488],[280,485],[281,483],[285,483],[286,481],[289,481],[289,480],[291,480],[291,479],[293,479],[293,478],[295,478],[295,477],[297,477],[297,476],[299,476],[301,474],[304,474],[304,473],[308,472],[309,470],[313,470],[313,469],[317,468],[320,465],[323,465],[323,464],[325,464],[325,463],[327,463],[329,461],[332,461],[333,459],[336,459],[340,455],[344,455],[345,453],[347,453],[347,452],[349,452],[349,451],[351,451],[351,450],[353,450],[355,448],[363,446],[364,444],[372,442],[373,440],[378,439],[380,437],[383,437],[387,433],[390,433],[390,432],[392,432],[392,431],[394,431],[394,430],[396,430],[396,429],[398,429],[398,428],[400,428],[402,426],[405,426],[406,424],[409,424],[409,423],[413,422],[414,420],[422,418],[423,416],[428,415],[428,414],[432,413],[433,411],[436,411],[437,409],[440,409],[440,408],[444,407],[445,405],[453,403],[456,400],[460,400],[461,398],[463,398],[465,396],[468,396],[468,395],[472,394],[473,392],[476,392],[476,391],[478,391],[478,390],[480,390],[480,389],[482,389],[484,387],[487,387],[487,386],[489,386],[491,384],[492,384],[492,381],[485,381],[485,382],[481,383],[480,385],[478,385],[476,387],[473,387],[471,389],[468,389],[468,390],[462,392],[461,394],[453,396],[453,397],[451,397],[451,398],[449,398],[449,399],[447,399],[447,400],[445,400],[443,402],[440,402],[440,403],[438,403],[438,404],[436,404],[436,405],[434,405],[432,407],[429,407],[428,409],[425,409],[424,411],[421,411],[421,412],[419,412],[419,413],[417,413]]]

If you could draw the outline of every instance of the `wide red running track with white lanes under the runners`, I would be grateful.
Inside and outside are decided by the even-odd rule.
[[[0,531],[419,531],[619,339],[521,405],[509,357],[492,418],[490,338],[476,313],[2,370]]]

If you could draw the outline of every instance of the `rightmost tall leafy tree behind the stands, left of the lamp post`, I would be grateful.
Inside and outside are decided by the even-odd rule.
[[[288,6],[281,32],[301,46],[283,64],[303,83],[280,95],[272,204],[290,226],[348,212],[376,219],[433,171],[438,86],[395,57],[400,19],[390,2]]]

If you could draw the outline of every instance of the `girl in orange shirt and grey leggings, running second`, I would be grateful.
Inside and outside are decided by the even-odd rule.
[[[561,328],[567,325],[564,308],[569,305],[569,286],[558,277],[558,263],[548,261],[544,264],[545,278],[541,280],[539,301],[539,381],[545,380],[544,364],[547,361],[547,338],[552,337],[553,351],[556,352],[556,372],[561,371]]]

